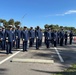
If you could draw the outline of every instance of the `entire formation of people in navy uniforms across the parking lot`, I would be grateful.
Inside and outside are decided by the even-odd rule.
[[[0,48],[2,50],[6,50],[7,54],[12,54],[12,48],[20,48],[20,39],[22,39],[23,51],[27,51],[28,44],[29,47],[33,47],[35,44],[36,49],[39,49],[42,46],[43,37],[47,48],[50,48],[51,45],[56,47],[58,44],[63,46],[67,45],[68,33],[64,33],[63,29],[60,31],[55,31],[46,27],[43,36],[43,32],[39,26],[37,26],[35,30],[33,27],[30,27],[30,30],[27,29],[27,27],[24,27],[23,30],[20,30],[20,26],[17,26],[17,29],[15,29],[9,25],[8,29],[0,27]],[[36,40],[36,43],[34,43],[34,39]],[[73,32],[71,31],[69,33],[70,44],[72,44],[72,39]]]

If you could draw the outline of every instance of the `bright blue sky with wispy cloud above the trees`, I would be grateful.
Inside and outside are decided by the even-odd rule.
[[[22,26],[45,24],[76,27],[76,0],[0,0],[0,18]]]

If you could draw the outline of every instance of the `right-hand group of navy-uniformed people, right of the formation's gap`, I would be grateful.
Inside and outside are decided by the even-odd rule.
[[[48,41],[47,35],[51,36],[51,39],[49,39],[51,41]],[[51,29],[50,32],[49,32],[49,28],[47,28],[47,30],[45,28],[44,37],[45,37],[44,43],[46,44],[47,48],[49,48],[50,43],[55,47],[57,46],[57,44],[59,44],[60,46],[67,45],[68,33],[67,32],[64,33],[63,28],[58,31],[54,31],[53,29]],[[73,39],[73,32],[71,31],[69,33],[69,43],[70,44],[72,44],[72,39]]]

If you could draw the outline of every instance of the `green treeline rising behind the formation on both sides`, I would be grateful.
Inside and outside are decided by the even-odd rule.
[[[12,25],[13,27],[17,27],[18,25],[21,25],[20,21],[15,21],[14,19],[10,19],[8,21],[5,20],[5,19],[0,19],[0,25],[1,25],[1,23],[3,24],[3,26],[5,28],[7,28],[8,25]],[[73,33],[76,34],[76,28],[75,27],[67,27],[67,26],[63,27],[63,26],[54,25],[54,24],[50,24],[50,25],[49,24],[45,24],[44,28],[45,27],[49,27],[49,28],[52,28],[52,29],[57,30],[57,31],[60,30],[61,28],[63,28],[64,30],[72,30]],[[21,27],[21,29],[23,29],[23,28]]]

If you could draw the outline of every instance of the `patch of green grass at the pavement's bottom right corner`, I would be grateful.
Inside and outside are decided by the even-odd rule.
[[[64,72],[57,72],[53,75],[76,75],[76,64],[73,64],[72,67],[69,67]]]

